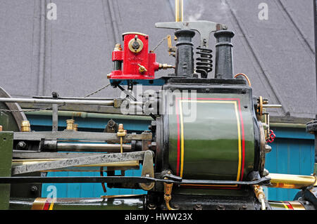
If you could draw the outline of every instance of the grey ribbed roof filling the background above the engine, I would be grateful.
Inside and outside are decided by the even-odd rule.
[[[13,96],[87,95],[108,83],[111,52],[123,32],[149,34],[150,48],[173,34],[154,27],[175,20],[173,0],[54,0],[57,20],[45,20],[48,2],[0,1],[1,86]],[[268,20],[258,18],[262,2]],[[220,22],[235,32],[235,73],[248,75],[254,95],[283,105],[274,117],[315,117],[313,1],[185,0],[184,13],[185,20]],[[166,43],[156,53],[158,62],[173,63]],[[97,96],[119,93],[109,88]]]

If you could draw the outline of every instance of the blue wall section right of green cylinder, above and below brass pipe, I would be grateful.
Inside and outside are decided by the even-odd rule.
[[[315,157],[313,135],[305,129],[275,129],[276,139],[266,154],[266,169],[270,173],[311,175]],[[270,200],[293,200],[299,190],[268,188]]]

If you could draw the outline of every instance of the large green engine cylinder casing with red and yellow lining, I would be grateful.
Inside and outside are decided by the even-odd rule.
[[[210,82],[189,87],[177,79],[163,87],[162,169],[196,180],[240,181],[261,174],[264,152],[251,88],[244,80]]]

